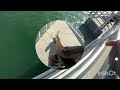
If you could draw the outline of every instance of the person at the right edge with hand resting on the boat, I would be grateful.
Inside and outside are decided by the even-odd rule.
[[[114,68],[116,74],[120,77],[120,40],[106,42],[107,46],[113,46],[109,54],[109,65]]]

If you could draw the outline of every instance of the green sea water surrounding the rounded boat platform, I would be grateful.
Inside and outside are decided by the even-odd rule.
[[[80,11],[0,11],[0,78],[32,78],[48,70],[35,51],[40,28],[60,19],[77,29],[86,18]]]

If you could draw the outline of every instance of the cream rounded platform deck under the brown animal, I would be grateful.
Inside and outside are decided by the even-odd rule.
[[[43,64],[48,66],[49,54],[55,53],[55,43],[53,38],[59,31],[59,37],[63,46],[80,46],[79,40],[76,38],[74,32],[70,29],[69,25],[62,20],[57,20],[44,35],[37,41],[35,48],[39,59]]]

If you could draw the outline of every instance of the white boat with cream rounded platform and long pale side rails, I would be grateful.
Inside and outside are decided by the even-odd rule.
[[[92,42],[85,46],[85,40],[80,36],[69,22],[57,20],[43,27],[36,40],[37,55],[44,64],[48,66],[49,50],[45,52],[46,47],[52,42],[52,38],[57,31],[60,31],[60,39],[64,46],[85,46],[82,58],[73,67],[64,70],[49,69],[33,79],[106,79],[113,78],[106,75],[99,75],[99,72],[109,69],[108,59],[112,47],[107,47],[107,40],[120,39],[120,22],[115,23],[114,16],[109,15],[106,21],[98,15],[96,11],[90,20],[94,22],[102,33]],[[102,12],[101,12],[102,13]],[[102,13],[103,14],[103,13]],[[94,17],[98,15],[97,17]],[[110,20],[114,22],[110,22]],[[87,22],[88,24],[90,21]],[[54,46],[54,45],[53,45]],[[52,46],[51,46],[52,47]],[[54,52],[54,51],[53,51]]]

